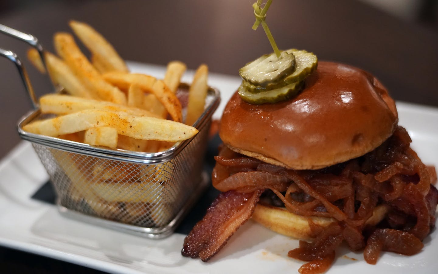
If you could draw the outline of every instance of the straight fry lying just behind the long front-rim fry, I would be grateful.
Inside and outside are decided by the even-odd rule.
[[[46,94],[39,98],[42,113],[69,114],[86,109],[102,109],[108,111],[121,111],[135,116],[150,116],[160,118],[145,109],[131,108],[112,102],[85,99],[69,95]]]

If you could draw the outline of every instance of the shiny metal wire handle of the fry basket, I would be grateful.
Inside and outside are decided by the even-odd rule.
[[[46,67],[42,45],[35,36],[24,33],[24,32],[20,32],[14,28],[9,28],[9,27],[2,25],[2,24],[0,24],[0,33],[4,33],[4,34],[9,35],[15,39],[24,41],[24,42],[28,43],[30,46],[34,47],[36,50],[38,50],[39,56],[42,60],[42,63],[44,64],[44,67]],[[21,81],[23,81],[23,84],[26,88],[26,91],[28,92],[28,96],[29,96],[29,99],[32,103],[32,106],[34,109],[38,109],[39,105],[38,105],[38,101],[37,101],[36,96],[35,96],[35,91],[32,88],[32,84],[31,84],[30,79],[28,77],[27,71],[26,71],[23,63],[21,62],[20,58],[18,58],[17,54],[15,54],[14,52],[12,52],[10,50],[6,50],[6,49],[1,49],[1,48],[0,48],[0,55],[3,57],[6,57],[7,59],[9,59],[15,63],[15,66],[18,69],[18,73],[20,74]]]

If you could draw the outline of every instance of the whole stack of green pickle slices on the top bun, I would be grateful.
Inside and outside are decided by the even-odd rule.
[[[280,58],[274,53],[261,56],[239,70],[239,95],[251,104],[288,100],[304,88],[304,79],[317,65],[316,55],[305,50],[288,49]]]

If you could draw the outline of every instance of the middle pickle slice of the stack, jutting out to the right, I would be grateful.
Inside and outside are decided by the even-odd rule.
[[[295,82],[303,81],[307,75],[316,70],[318,66],[318,58],[313,53],[309,53],[305,50],[288,49],[287,53],[293,53],[295,56],[295,71],[292,74],[286,76],[279,82],[271,82],[265,84],[265,86],[255,85],[249,81],[243,81],[243,85],[248,92],[263,92],[273,89],[277,89]]]

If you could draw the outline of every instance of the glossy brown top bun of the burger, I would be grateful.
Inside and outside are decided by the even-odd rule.
[[[398,123],[394,100],[371,74],[318,62],[291,100],[252,105],[237,92],[219,135],[230,149],[288,169],[321,169],[372,151]]]

